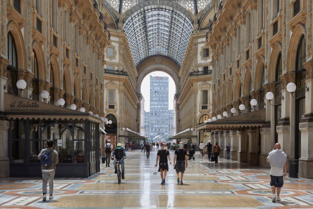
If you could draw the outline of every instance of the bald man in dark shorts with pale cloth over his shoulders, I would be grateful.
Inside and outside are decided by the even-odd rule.
[[[284,176],[287,175],[287,155],[281,150],[279,143],[274,145],[274,149],[268,153],[266,161],[271,165],[271,187],[272,187],[272,202],[280,202],[280,191],[284,185]],[[284,172],[285,170],[285,172]],[[277,197],[276,197],[277,190]]]

